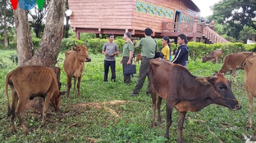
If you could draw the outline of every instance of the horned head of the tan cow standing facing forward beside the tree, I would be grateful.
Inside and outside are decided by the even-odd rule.
[[[78,45],[74,41],[74,44],[76,47],[72,47],[72,50],[74,50],[76,52],[78,60],[80,60],[82,62],[90,62],[91,61],[91,59],[88,55],[88,48],[86,47],[87,43],[88,43],[88,41],[86,41],[83,45]]]

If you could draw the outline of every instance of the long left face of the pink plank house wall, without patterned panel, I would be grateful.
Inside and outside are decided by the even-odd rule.
[[[72,28],[131,29],[136,0],[69,0]]]

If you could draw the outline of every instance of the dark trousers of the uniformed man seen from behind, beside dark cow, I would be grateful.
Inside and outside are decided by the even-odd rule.
[[[139,67],[139,77],[138,77],[138,82],[137,85],[135,86],[135,89],[133,90],[133,93],[137,94],[139,91],[141,91],[143,84],[145,82],[146,76],[148,75],[148,69],[150,65],[150,61],[153,58],[148,58],[148,57],[143,57],[142,62],[141,62],[141,67]],[[146,92],[150,91],[150,84],[148,82],[148,88]]]

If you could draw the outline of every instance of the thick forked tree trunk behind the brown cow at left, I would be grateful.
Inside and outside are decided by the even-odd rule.
[[[14,15],[19,66],[39,64],[46,67],[54,67],[62,42],[64,14],[65,0],[51,0],[47,12],[44,35],[38,51],[34,54],[26,12],[20,6],[17,6]],[[26,109],[41,112],[42,98],[34,98],[32,101],[28,101]]]

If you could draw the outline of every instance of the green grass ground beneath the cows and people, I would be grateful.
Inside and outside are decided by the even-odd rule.
[[[2,142],[90,142],[91,139],[99,139],[98,142],[163,142],[163,134],[166,132],[166,109],[162,102],[161,115],[163,124],[155,128],[149,128],[151,124],[151,96],[145,94],[147,81],[139,96],[131,97],[137,80],[132,80],[130,85],[123,83],[122,67],[119,63],[121,56],[116,59],[117,81],[111,82],[109,69],[108,82],[103,82],[103,55],[90,55],[92,62],[86,63],[81,82],[81,98],[77,98],[77,92],[71,92],[70,98],[64,95],[60,105],[60,111],[54,112],[51,108],[47,112],[46,125],[41,125],[41,117],[32,116],[33,111],[24,114],[28,135],[23,134],[19,127],[19,121],[15,124],[17,132],[10,131],[10,118],[7,117],[7,99],[5,95],[5,76],[17,66],[8,56],[16,51],[1,50],[0,59],[6,65],[0,68],[0,140]],[[64,59],[64,53],[59,54]],[[66,76],[63,70],[63,61],[59,62],[62,70],[60,81],[62,90],[66,89]],[[201,61],[188,64],[188,69],[196,76],[211,76],[216,70],[221,69],[221,64],[211,65],[211,62]],[[137,72],[139,65],[137,64]],[[228,79],[229,76],[225,75]],[[135,74],[138,78],[138,73]],[[210,127],[223,142],[245,142],[243,134],[252,135],[253,129],[246,129],[248,117],[248,101],[244,88],[243,70],[237,71],[237,83],[232,83],[232,89],[237,100],[242,104],[242,109],[236,112],[228,108],[210,105],[200,112],[188,112],[184,122],[184,142],[218,142],[214,135],[210,134]],[[112,100],[125,100],[125,103],[96,106],[77,106],[82,103],[107,102]],[[108,112],[112,109],[119,115]],[[178,139],[179,113],[173,110],[173,124],[170,127],[170,141]],[[188,119],[204,120],[205,123]],[[255,119],[252,120],[255,126]],[[72,124],[75,127],[69,128]]]

